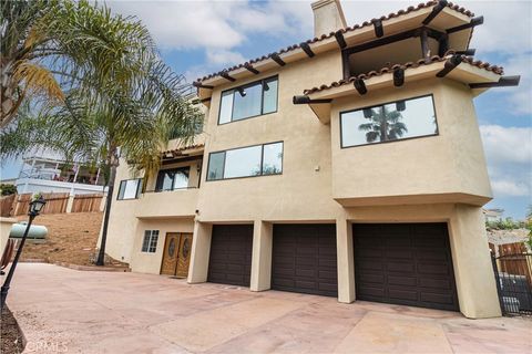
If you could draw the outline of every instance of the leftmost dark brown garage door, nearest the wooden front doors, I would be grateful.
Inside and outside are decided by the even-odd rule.
[[[253,225],[213,226],[207,281],[249,287]]]

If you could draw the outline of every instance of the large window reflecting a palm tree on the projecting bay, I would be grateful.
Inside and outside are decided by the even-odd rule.
[[[438,134],[432,95],[340,114],[341,147]]]

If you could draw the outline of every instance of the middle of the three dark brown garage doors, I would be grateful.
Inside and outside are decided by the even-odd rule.
[[[335,225],[275,225],[272,289],[338,295]]]

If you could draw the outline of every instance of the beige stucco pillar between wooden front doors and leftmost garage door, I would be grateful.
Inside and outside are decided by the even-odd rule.
[[[211,223],[194,222],[194,237],[192,240],[191,266],[188,268],[190,284],[204,283],[207,281],[208,256],[211,252]]]

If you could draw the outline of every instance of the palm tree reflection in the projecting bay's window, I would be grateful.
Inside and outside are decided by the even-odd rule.
[[[358,129],[366,133],[366,140],[375,143],[395,140],[408,132],[405,123],[399,122],[402,115],[398,111],[388,111],[386,106],[380,106],[377,110],[364,110],[364,116],[370,123],[364,123],[358,126]]]

